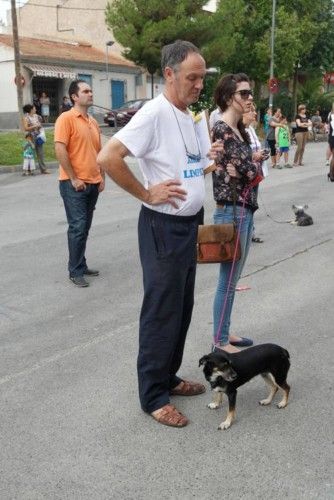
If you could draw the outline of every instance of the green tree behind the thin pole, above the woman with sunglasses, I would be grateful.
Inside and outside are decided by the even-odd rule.
[[[222,71],[247,73],[257,96],[269,77],[272,2],[221,0],[215,39],[205,56]],[[297,78],[298,68],[320,71],[334,65],[334,19],[331,0],[278,0],[275,29],[275,76]],[[297,80],[296,80],[297,81]]]

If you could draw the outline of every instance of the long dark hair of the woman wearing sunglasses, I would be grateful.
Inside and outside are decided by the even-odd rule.
[[[226,111],[228,108],[228,101],[232,99],[234,92],[237,90],[237,84],[241,82],[248,82],[249,78],[245,73],[235,73],[223,76],[215,89],[214,100],[216,105],[220,108],[222,112]],[[249,135],[245,130],[245,125],[243,124],[242,117],[237,124],[238,130],[241,137],[247,144],[250,143]]]

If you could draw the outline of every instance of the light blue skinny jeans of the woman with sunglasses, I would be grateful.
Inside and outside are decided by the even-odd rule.
[[[243,215],[242,215],[243,211]],[[242,217],[241,217],[242,215]],[[233,217],[233,205],[225,205],[224,207],[217,207],[214,215],[213,221],[215,224],[227,224],[234,221]],[[230,277],[230,272],[232,268],[232,263],[220,264],[220,272],[218,285],[216,290],[216,295],[213,303],[213,324],[214,324],[214,344],[226,345],[228,344],[228,336],[231,323],[231,313],[235,296],[235,288],[237,286],[238,280],[241,276],[241,272],[244,268],[250,243],[252,240],[253,233],[253,212],[249,208],[242,208],[241,206],[236,206],[236,222],[237,229],[241,225],[240,230],[240,245],[241,245],[241,258],[239,261],[235,262],[233,276],[231,279],[230,288],[228,291],[228,296],[226,299],[226,306],[224,312],[224,319],[222,325],[221,316],[223,312],[225,297],[227,295],[227,287]],[[220,328],[219,328],[220,325]],[[218,332],[219,328],[219,332]]]

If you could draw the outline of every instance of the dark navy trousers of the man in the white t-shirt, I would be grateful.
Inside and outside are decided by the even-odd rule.
[[[139,252],[144,300],[140,315],[138,384],[141,406],[152,413],[169,403],[194,304],[198,215],[161,214],[142,207]]]

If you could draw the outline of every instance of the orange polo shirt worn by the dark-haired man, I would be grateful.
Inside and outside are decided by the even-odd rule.
[[[75,108],[62,113],[55,123],[54,142],[65,144],[67,153],[78,179],[88,184],[102,181],[97,165],[97,154],[101,149],[100,129],[91,116],[84,116]],[[69,179],[65,169],[59,165],[59,180]]]

